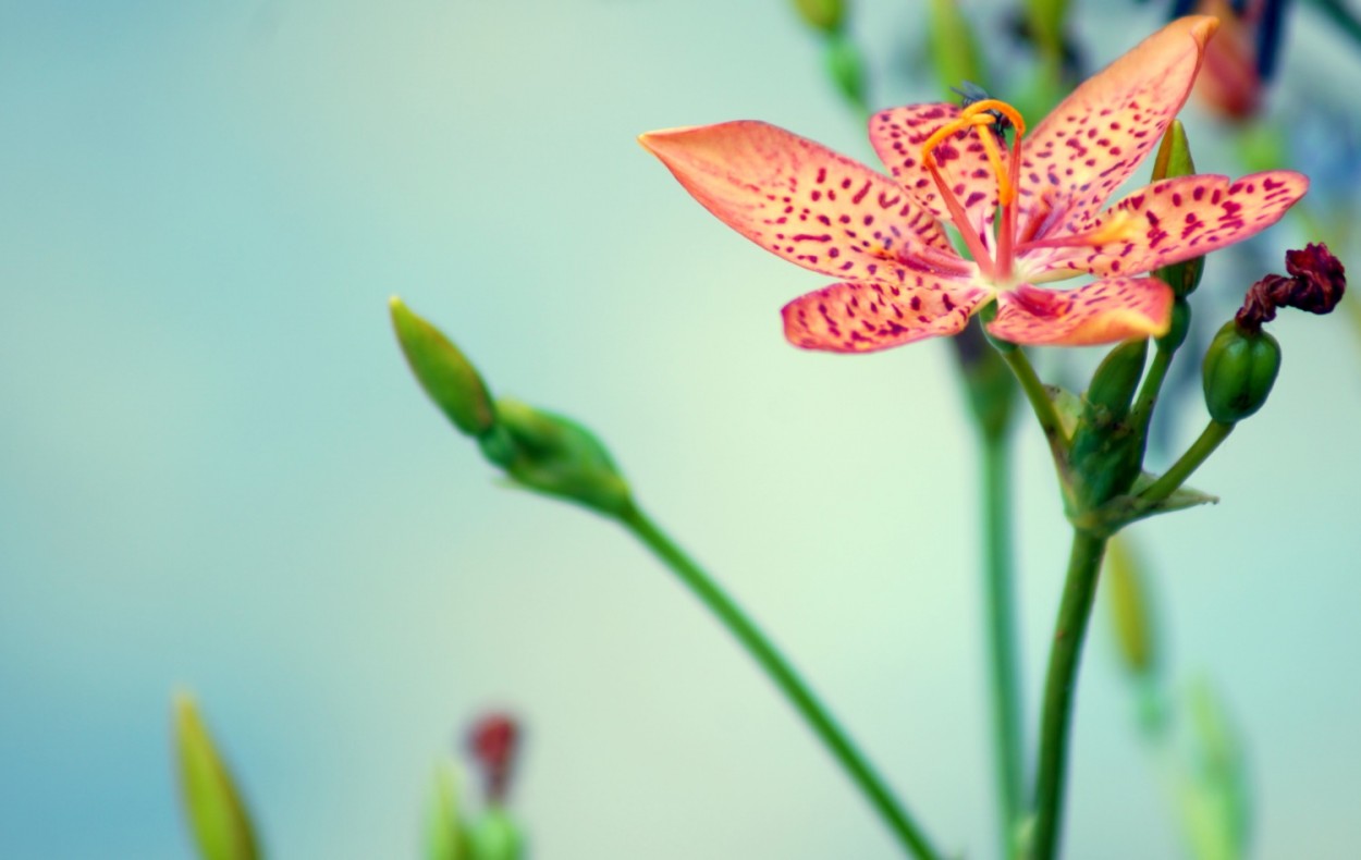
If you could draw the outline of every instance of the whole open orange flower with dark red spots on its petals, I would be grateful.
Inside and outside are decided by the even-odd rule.
[[[642,135],[640,142],[729,227],[841,279],[784,308],[791,343],[867,352],[954,335],[996,302],[988,331],[1019,344],[1085,346],[1162,335],[1160,267],[1245,239],[1308,188],[1289,170],[1233,181],[1162,180],[1101,207],[1158,143],[1214,34],[1172,22],[1079,86],[1028,136],[1010,105],[911,105],[875,114],[889,178],[765,122]],[[998,112],[1015,129],[1010,147]],[[954,250],[954,226],[968,259]],[[1090,274],[1068,288],[1036,284]]]

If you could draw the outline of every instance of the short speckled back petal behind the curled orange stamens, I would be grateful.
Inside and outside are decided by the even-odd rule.
[[[935,103],[893,108],[870,120],[870,143],[879,159],[893,173],[893,178],[940,220],[949,220],[950,211],[940,200],[931,171],[921,163],[921,144],[958,116],[957,106]],[[935,159],[942,178],[964,204],[969,223],[991,248],[992,231],[987,225],[998,208],[998,177],[987,151],[979,143],[979,133],[991,132],[964,129],[936,147]],[[1006,158],[1007,144],[1002,143],[1000,150]]]

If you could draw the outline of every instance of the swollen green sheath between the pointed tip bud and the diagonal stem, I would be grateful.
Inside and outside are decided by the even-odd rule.
[[[509,399],[497,401],[497,420],[513,450],[505,469],[517,483],[610,516],[632,509],[629,484],[581,425]]]

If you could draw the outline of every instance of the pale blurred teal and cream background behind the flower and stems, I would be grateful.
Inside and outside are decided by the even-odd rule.
[[[1081,24],[1105,61],[1155,16],[1108,3]],[[911,4],[857,26],[893,75],[876,102],[931,94],[902,83]],[[1356,79],[1316,23],[1292,37],[1288,75]],[[535,857],[897,856],[652,558],[493,486],[408,378],[392,293],[499,392],[596,427],[935,838],[989,856],[949,350],[784,343],[777,309],[822,279],[634,143],[739,117],[867,152],[773,1],[0,7],[0,857],[188,857],[177,684],[279,859],[416,856],[431,763],[489,705],[529,725]],[[1302,239],[1282,227],[1264,259]],[[1221,318],[1233,272],[1213,263],[1203,291],[1229,295]],[[1259,856],[1351,857],[1361,344],[1341,318],[1275,332],[1278,393],[1196,478],[1224,502],[1136,533],[1177,675],[1213,675],[1251,739]],[[1036,437],[1032,724],[1067,540]],[[1108,634],[1098,616],[1070,856],[1175,856]]]

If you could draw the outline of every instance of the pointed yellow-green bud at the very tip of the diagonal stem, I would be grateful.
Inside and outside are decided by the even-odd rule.
[[[396,295],[388,299],[388,306],[397,343],[421,388],[464,434],[480,437],[490,431],[495,425],[491,395],[472,362]]]

